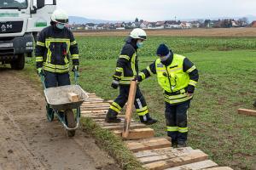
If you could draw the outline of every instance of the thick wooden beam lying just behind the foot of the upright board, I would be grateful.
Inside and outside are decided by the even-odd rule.
[[[122,136],[122,131],[116,130],[113,133]],[[138,128],[132,129],[126,139],[148,139],[154,137],[154,130],[152,128]]]

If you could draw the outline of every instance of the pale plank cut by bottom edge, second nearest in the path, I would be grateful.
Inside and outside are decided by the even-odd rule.
[[[189,163],[187,165],[178,166],[178,167],[171,167],[167,168],[166,170],[200,170],[209,167],[218,167],[218,164],[211,160],[206,161],[198,161],[195,163]]]

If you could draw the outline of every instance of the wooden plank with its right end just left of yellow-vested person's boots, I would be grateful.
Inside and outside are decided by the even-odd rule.
[[[129,150],[133,152],[142,151],[142,150],[153,150],[159,148],[171,147],[171,142],[167,139],[151,139],[146,142],[138,142],[137,144],[128,143],[126,144]]]

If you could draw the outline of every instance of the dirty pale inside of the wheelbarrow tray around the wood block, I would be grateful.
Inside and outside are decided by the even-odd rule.
[[[78,85],[61,86],[57,88],[46,88],[44,91],[50,105],[63,105],[78,101],[84,101],[88,95]],[[69,99],[69,94],[77,95],[76,101]]]

